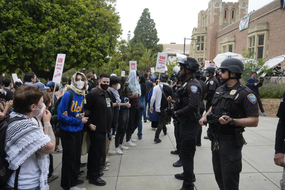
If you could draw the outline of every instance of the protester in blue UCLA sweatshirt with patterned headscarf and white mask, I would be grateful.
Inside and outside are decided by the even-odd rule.
[[[51,82],[51,81],[50,81]],[[72,76],[72,83],[66,87],[72,91],[72,104],[69,105],[70,93],[64,93],[58,105],[58,121],[60,124],[60,138],[63,148],[61,167],[61,187],[65,190],[86,190],[77,188],[76,185],[83,184],[83,180],[78,180],[81,157],[81,131],[83,124],[87,122],[87,117],[80,113],[84,110],[85,90],[87,79],[83,73],[76,72]],[[68,117],[62,115],[67,111]]]

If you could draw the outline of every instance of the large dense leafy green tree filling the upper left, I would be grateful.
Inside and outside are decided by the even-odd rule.
[[[0,1],[0,72],[19,68],[52,78],[58,53],[66,54],[64,71],[108,63],[121,34],[108,2]]]

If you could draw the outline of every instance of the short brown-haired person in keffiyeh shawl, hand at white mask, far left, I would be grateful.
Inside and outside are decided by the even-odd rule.
[[[55,137],[50,125],[51,114],[45,110],[43,92],[34,86],[22,86],[14,94],[14,112],[5,137],[5,158],[15,170],[1,189],[14,189],[16,170],[19,171],[17,189],[48,189],[47,172]],[[43,116],[44,131],[31,118]],[[17,121],[18,120],[18,121]],[[37,154],[36,154],[37,152]]]

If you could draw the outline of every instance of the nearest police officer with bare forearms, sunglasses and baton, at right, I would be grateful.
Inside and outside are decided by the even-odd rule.
[[[219,68],[221,82],[225,84],[216,90],[211,108],[199,123],[217,121],[209,124],[207,131],[216,182],[220,190],[238,190],[242,132],[244,127],[258,125],[258,104],[254,93],[239,81],[244,72],[240,59],[227,58]]]

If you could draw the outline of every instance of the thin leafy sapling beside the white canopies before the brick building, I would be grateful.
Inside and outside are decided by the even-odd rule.
[[[244,63],[244,70],[245,72],[242,74],[242,77],[245,81],[251,77],[251,72],[253,71],[262,71],[262,72],[269,72],[270,68],[268,66],[263,66],[264,59],[260,58],[258,60],[252,59],[254,52],[250,52],[249,50],[246,52],[246,49],[243,48],[243,57],[242,59]],[[262,72],[259,72],[258,75],[261,75]]]

